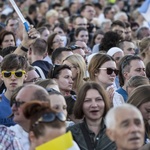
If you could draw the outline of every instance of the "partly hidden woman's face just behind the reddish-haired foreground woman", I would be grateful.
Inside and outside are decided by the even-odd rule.
[[[62,95],[50,95],[50,104],[51,107],[56,109],[59,112],[63,112],[64,115],[67,117],[67,104]]]

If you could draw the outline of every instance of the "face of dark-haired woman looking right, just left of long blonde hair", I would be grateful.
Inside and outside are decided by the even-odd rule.
[[[58,79],[55,80],[59,86],[60,91],[70,92],[72,90],[73,80],[71,70],[61,70]]]

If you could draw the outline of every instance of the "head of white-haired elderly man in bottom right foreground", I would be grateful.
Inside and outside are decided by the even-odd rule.
[[[130,104],[112,108],[106,116],[106,133],[117,150],[140,150],[144,143],[144,122],[140,111]]]

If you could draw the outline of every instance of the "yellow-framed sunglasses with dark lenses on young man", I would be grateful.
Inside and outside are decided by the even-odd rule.
[[[23,74],[25,74],[26,72],[24,70],[19,70],[19,71],[2,71],[2,75],[5,78],[10,78],[12,76],[12,74],[15,75],[16,78],[21,78],[23,76]]]

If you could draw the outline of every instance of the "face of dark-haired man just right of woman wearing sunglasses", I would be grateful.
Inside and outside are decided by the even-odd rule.
[[[133,76],[146,76],[145,65],[142,60],[132,60],[130,62],[130,71],[127,73],[127,80]]]

